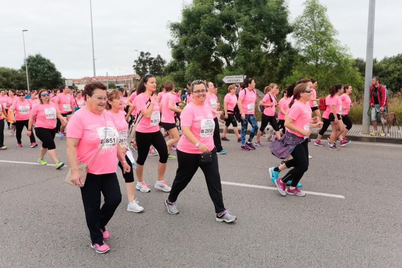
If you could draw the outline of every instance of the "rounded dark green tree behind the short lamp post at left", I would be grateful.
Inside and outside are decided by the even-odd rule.
[[[34,90],[38,88],[55,88],[57,85],[64,83],[61,73],[54,63],[39,53],[29,55],[27,65],[29,85]],[[25,71],[25,64],[21,66],[21,70]]]

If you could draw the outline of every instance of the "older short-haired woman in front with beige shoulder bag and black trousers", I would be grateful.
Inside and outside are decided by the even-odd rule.
[[[116,157],[123,172],[130,172],[118,142],[119,133],[110,113],[105,113],[108,101],[106,85],[91,81],[84,87],[86,105],[71,117],[67,128],[67,159],[71,182],[80,186],[91,247],[105,253],[110,247],[104,240],[110,237],[106,225],[122,201],[116,175]],[[78,171],[78,162],[88,165],[85,184]],[[101,193],[105,203],[100,208]]]

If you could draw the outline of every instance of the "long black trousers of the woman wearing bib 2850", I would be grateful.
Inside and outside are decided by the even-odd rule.
[[[221,176],[219,174],[217,153],[215,152],[213,154],[212,163],[199,164],[199,154],[185,153],[180,150],[177,150],[176,152],[178,167],[168,200],[170,202],[176,202],[180,192],[184,190],[187,184],[191,181],[191,178],[194,176],[195,172],[198,170],[198,167],[200,167],[204,172],[208,192],[212,202],[214,203],[215,212],[221,213],[224,211],[225,206],[223,204]]]

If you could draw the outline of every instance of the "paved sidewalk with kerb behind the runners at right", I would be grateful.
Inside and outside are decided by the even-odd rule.
[[[261,122],[258,122],[258,126],[261,125]],[[219,128],[221,133],[223,132],[224,124],[219,123]],[[240,133],[240,123],[238,123],[238,129]],[[248,125],[248,131],[251,129],[250,124]],[[402,127],[399,126],[400,132],[398,132],[398,127],[394,126],[391,127],[389,130],[389,136],[370,136],[370,134],[362,134],[361,133],[362,125],[353,125],[352,129],[349,130],[349,133],[346,135],[348,139],[354,141],[366,141],[366,142],[384,142],[384,143],[395,143],[395,144],[402,144]],[[378,130],[381,131],[381,126],[378,127]],[[312,135],[310,136],[312,139],[316,139],[318,135],[319,129],[312,129]],[[373,131],[373,126],[370,126],[370,132]],[[229,126],[228,133],[234,133],[232,125]],[[328,130],[324,133],[324,138],[327,138],[331,134],[331,126]]]

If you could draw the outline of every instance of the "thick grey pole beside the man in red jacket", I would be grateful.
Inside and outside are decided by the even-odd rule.
[[[362,134],[370,133],[370,116],[367,114],[367,111],[370,108],[370,85],[371,85],[371,79],[373,78],[374,16],[375,16],[375,0],[369,0]]]

